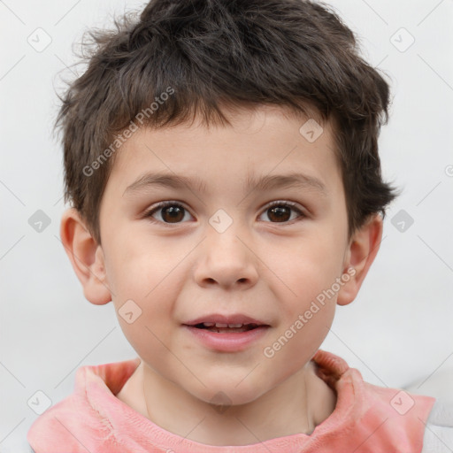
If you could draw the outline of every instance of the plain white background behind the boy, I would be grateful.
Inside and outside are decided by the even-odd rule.
[[[384,240],[354,303],[338,307],[322,349],[343,357],[379,386],[426,380],[453,370],[453,2],[342,0],[332,3],[373,66],[391,78],[391,118],[380,135],[383,174],[400,196],[388,211]],[[73,390],[75,370],[135,357],[113,305],[95,306],[59,241],[62,150],[52,136],[60,75],[72,74],[72,45],[88,27],[142,2],[0,2],[0,451],[19,451],[37,415],[37,390],[57,403]],[[28,36],[42,27],[42,52]],[[409,35],[415,42],[405,51]],[[392,36],[395,35],[395,38]],[[63,73],[60,73],[63,71]],[[60,73],[60,74],[58,74]],[[450,165],[450,166],[449,166]],[[50,225],[28,224],[37,210]],[[406,211],[413,225],[391,220]],[[431,387],[430,387],[431,382]],[[450,392],[453,392],[450,388]],[[13,447],[16,446],[16,447]]]

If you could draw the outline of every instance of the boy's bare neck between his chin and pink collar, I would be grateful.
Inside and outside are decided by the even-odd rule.
[[[117,397],[157,426],[188,440],[213,446],[249,445],[311,434],[334,411],[334,390],[317,376],[315,367],[309,362],[253,402],[219,408],[142,362]]]

